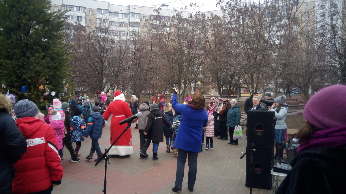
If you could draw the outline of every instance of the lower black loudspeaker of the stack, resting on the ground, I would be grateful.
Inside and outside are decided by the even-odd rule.
[[[251,154],[248,152],[246,154],[246,180],[245,186],[250,187],[250,157]],[[270,170],[272,167],[271,159],[273,158],[272,150],[258,150],[254,151],[254,168],[251,174],[252,187],[271,189],[272,188],[272,176]]]

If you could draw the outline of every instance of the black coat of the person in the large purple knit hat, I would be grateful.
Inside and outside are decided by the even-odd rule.
[[[292,169],[277,194],[344,193],[346,145],[301,151],[291,162]]]

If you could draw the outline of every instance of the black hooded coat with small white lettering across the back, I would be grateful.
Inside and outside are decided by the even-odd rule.
[[[163,123],[170,125],[170,122],[158,108],[152,109],[148,114],[148,122],[144,132],[148,133],[147,135],[151,137],[153,143],[163,142]]]

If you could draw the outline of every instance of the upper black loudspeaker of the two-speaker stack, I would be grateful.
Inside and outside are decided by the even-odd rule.
[[[252,143],[254,149],[273,149],[275,113],[273,111],[249,110],[247,111],[246,138],[247,147]]]

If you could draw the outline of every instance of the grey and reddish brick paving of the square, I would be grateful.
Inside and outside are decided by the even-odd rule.
[[[158,160],[152,161],[150,152],[148,152],[149,158],[139,159],[138,130],[131,129],[131,132],[134,154],[127,158],[110,158],[110,164],[107,166],[107,193],[174,193],[172,187],[175,182],[176,156],[172,152],[166,153],[165,142],[162,142],[158,149]],[[101,150],[109,146],[109,139],[110,128],[107,126],[99,140]],[[228,141],[216,138],[213,141],[213,149],[209,151],[204,149],[198,155],[197,180],[193,192],[189,192],[187,188],[188,162],[186,162],[182,193],[250,193],[250,189],[245,187],[245,157],[239,159],[245,151],[246,140],[240,139],[238,146],[228,145]],[[90,147],[90,138],[82,142],[81,162],[71,162],[70,154],[64,148],[65,159],[61,162],[64,167],[64,178],[62,184],[54,188],[53,194],[102,193],[104,163],[95,166],[93,160],[85,159]],[[152,146],[148,151],[151,149]],[[254,188],[252,192],[259,194],[272,191]]]

